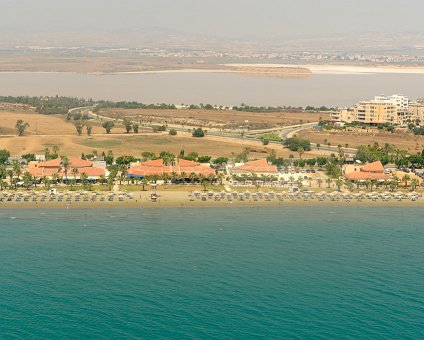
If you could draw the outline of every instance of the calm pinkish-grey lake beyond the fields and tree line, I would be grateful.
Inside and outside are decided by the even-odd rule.
[[[0,95],[66,95],[145,103],[352,106],[379,94],[424,97],[424,74],[317,74],[305,78],[228,73],[87,75],[0,73]]]

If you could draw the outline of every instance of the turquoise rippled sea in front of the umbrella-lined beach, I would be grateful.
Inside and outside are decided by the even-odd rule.
[[[424,338],[424,209],[2,209],[0,338]]]

